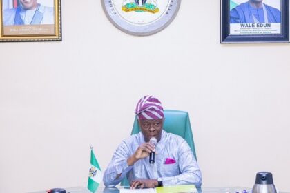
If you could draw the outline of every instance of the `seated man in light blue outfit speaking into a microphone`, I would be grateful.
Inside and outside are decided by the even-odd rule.
[[[163,130],[162,104],[154,96],[144,96],[135,110],[141,132],[122,141],[106,171],[104,185],[115,186],[124,177],[131,188],[194,184],[200,187],[202,175],[191,148],[182,137]],[[150,139],[157,139],[156,151]],[[149,154],[155,152],[150,165]]]

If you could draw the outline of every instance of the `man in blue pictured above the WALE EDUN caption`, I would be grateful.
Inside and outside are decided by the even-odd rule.
[[[249,0],[233,8],[230,12],[230,23],[280,23],[280,11],[262,1]]]

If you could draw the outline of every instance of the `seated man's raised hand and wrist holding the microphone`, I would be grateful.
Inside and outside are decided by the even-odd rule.
[[[134,165],[134,163],[137,162],[139,159],[144,159],[149,156],[151,152],[155,152],[154,145],[151,143],[142,143],[137,148],[135,153],[127,159],[128,165]]]

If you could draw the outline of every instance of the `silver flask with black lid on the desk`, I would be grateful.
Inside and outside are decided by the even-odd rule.
[[[253,193],[276,193],[273,176],[270,172],[259,172],[255,176]]]

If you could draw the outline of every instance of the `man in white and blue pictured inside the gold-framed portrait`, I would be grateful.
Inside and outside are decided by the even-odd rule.
[[[55,13],[37,0],[20,0],[17,8],[4,10],[3,23],[4,26],[54,24]]]

